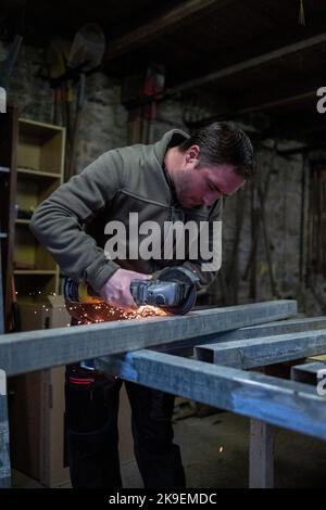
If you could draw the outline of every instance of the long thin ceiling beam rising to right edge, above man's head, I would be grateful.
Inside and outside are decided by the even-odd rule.
[[[315,48],[319,44],[324,44],[326,42],[326,33],[319,34],[315,37],[310,37],[308,39],[303,39],[299,42],[294,42],[293,44],[288,44],[284,48],[278,48],[277,50],[271,51],[260,56],[254,56],[253,59],[249,59],[244,62],[239,62],[238,64],[230,65],[220,71],[215,71],[214,73],[210,73],[205,76],[201,76],[199,78],[191,79],[184,84],[177,85],[176,87],[172,87],[166,91],[166,94],[174,95],[179,92],[184,92],[188,89],[193,89],[196,87],[202,87],[203,85],[208,85],[212,81],[217,81],[222,78],[228,78],[230,76],[237,75],[239,73],[243,73],[246,71],[252,71],[256,67],[271,64],[273,62],[278,61],[279,59],[284,59],[286,56],[293,55],[300,51],[305,51],[312,48]]]

